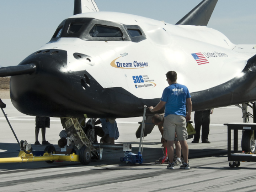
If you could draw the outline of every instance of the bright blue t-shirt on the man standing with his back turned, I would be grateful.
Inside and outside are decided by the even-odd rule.
[[[161,98],[161,101],[166,102],[164,116],[186,116],[186,99],[190,97],[188,88],[184,85],[174,83],[166,87]]]

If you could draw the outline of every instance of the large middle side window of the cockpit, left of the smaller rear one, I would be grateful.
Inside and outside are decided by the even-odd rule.
[[[94,25],[89,32],[92,37],[122,37],[123,34],[119,28]]]

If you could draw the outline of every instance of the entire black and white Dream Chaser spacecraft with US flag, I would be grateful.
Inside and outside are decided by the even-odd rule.
[[[12,76],[12,104],[33,116],[142,116],[144,105],[160,101],[170,70],[189,88],[193,111],[254,102],[255,45],[235,45],[206,27],[217,1],[203,0],[173,25],[75,0],[74,16],[50,42],[0,68]]]

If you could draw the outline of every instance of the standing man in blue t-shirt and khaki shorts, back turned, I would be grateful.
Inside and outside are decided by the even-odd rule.
[[[170,164],[167,169],[174,169],[173,155],[174,155],[174,139],[175,132],[180,141],[184,163],[180,166],[181,169],[190,169],[188,163],[188,144],[186,138],[188,133],[186,130],[186,121],[191,119],[192,102],[188,88],[177,83],[177,73],[169,71],[166,74],[166,80],[170,86],[164,89],[162,98],[156,107],[149,107],[151,112],[158,111],[165,106],[164,113],[164,135],[167,140],[167,151],[169,154]],[[187,104],[187,114],[186,114]]]

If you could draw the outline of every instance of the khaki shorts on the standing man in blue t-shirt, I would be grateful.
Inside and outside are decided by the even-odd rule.
[[[186,118],[182,115],[168,115],[164,118],[164,134],[163,137],[168,141],[175,140],[175,132],[177,139],[180,141],[188,138],[186,129]]]

